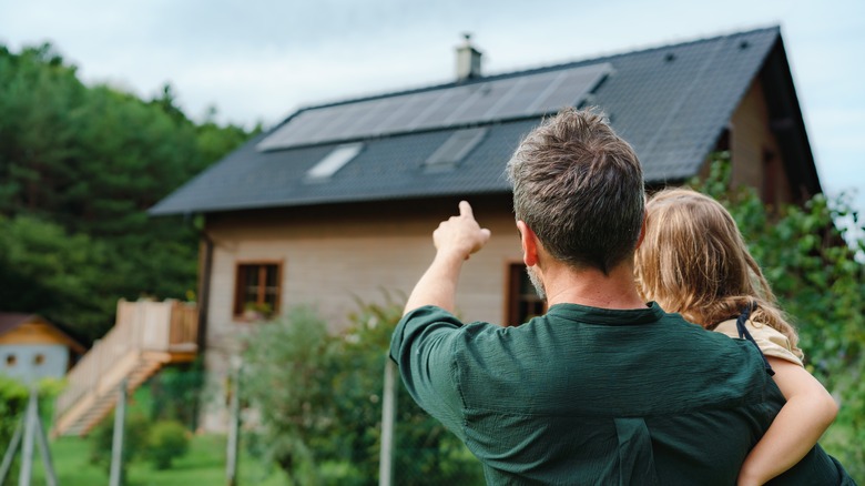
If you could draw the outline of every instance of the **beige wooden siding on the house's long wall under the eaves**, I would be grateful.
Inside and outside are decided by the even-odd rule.
[[[211,215],[214,242],[207,310],[206,367],[221,388],[238,337],[256,323],[235,318],[233,300],[237,262],[282,261],[281,313],[293,306],[317,307],[332,331],[348,323],[362,302],[384,302],[385,292],[400,301],[432,261],[432,231],[458,211],[459,200],[400,201],[339,209],[309,207]],[[502,322],[507,262],[521,261],[509,195],[470,198],[475,215],[492,239],[464,267],[457,297],[467,321]],[[214,401],[221,402],[221,401]],[[223,429],[217,406],[204,428]]]

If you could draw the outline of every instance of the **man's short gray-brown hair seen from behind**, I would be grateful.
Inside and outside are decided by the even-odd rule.
[[[633,256],[645,193],[640,161],[594,109],[566,109],[508,162],[513,211],[550,255],[604,274]]]

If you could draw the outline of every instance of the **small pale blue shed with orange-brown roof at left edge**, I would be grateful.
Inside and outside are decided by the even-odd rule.
[[[84,347],[35,314],[0,312],[0,374],[27,384],[62,378]]]

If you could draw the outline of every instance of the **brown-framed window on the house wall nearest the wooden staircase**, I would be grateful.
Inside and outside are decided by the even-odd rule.
[[[256,320],[278,313],[282,273],[277,262],[237,264],[234,315]]]

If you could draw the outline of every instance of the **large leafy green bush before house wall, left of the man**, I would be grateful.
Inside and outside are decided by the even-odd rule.
[[[352,325],[328,334],[308,307],[262,325],[244,355],[245,395],[262,414],[263,441],[296,484],[375,484],[384,365],[401,305],[359,304]],[[400,484],[482,483],[459,439],[399,392],[395,469]]]

